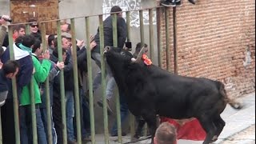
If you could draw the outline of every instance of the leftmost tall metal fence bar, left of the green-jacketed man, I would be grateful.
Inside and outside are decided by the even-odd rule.
[[[13,28],[8,26],[9,34],[9,46],[10,46],[10,59],[14,60],[14,46],[13,46]],[[15,126],[15,140],[16,144],[20,144],[20,131],[19,131],[19,119],[18,119],[18,94],[16,78],[12,78],[13,98],[14,98],[14,126]]]

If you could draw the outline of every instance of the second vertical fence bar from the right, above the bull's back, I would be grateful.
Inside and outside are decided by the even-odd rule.
[[[166,16],[166,70],[170,71],[170,34],[169,34],[169,19],[170,9],[165,7],[165,16]]]

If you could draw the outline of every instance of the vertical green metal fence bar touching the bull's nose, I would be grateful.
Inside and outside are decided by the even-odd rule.
[[[103,27],[103,18],[102,15],[98,16],[99,19],[99,34],[100,34],[100,52],[101,52],[101,70],[102,70],[102,101],[103,101],[103,116],[104,116],[104,134],[105,134],[105,143],[108,144],[109,140],[109,129],[108,129],[108,116],[106,108],[106,66],[103,57],[104,51],[104,27]]]

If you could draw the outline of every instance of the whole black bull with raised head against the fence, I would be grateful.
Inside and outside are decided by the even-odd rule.
[[[152,138],[157,114],[174,119],[198,118],[206,131],[203,144],[208,144],[218,139],[225,126],[220,114],[226,104],[241,108],[227,97],[222,82],[178,76],[158,66],[146,66],[141,61],[143,48],[136,61],[126,50],[110,46],[105,50],[118,90],[124,94],[130,112],[146,120]]]

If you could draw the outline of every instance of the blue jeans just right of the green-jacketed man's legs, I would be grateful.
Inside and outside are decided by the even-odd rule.
[[[46,138],[48,140],[48,130],[47,130],[47,113],[46,113],[46,108],[40,108],[41,115],[42,115],[42,122],[44,125],[44,128],[46,130]],[[54,121],[53,121],[53,115],[52,115],[52,107],[50,107],[50,116],[51,116],[51,132],[52,132],[52,137],[53,137],[53,144],[57,144],[57,133],[54,128]]]

